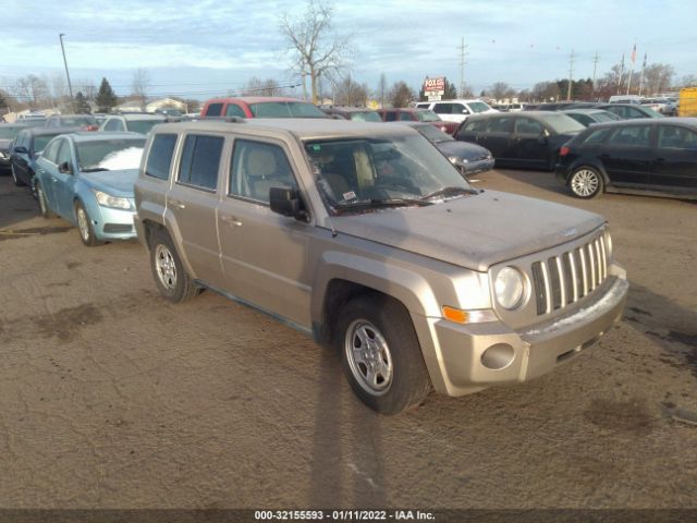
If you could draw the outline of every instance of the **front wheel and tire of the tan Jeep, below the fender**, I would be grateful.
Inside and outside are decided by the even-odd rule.
[[[381,294],[348,302],[341,312],[337,344],[356,396],[381,414],[421,403],[431,389],[421,348],[406,308]]]

